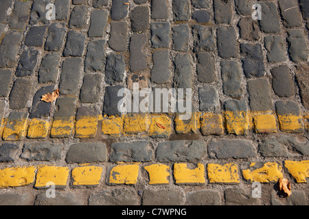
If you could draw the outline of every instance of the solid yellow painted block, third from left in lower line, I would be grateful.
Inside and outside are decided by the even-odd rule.
[[[82,166],[73,168],[73,185],[99,185],[103,168],[100,166]]]

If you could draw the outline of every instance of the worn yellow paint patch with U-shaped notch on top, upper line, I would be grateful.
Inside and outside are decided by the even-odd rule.
[[[175,131],[176,133],[196,133],[198,127],[199,127],[199,116],[201,113],[192,113],[190,119],[182,120],[181,115],[176,114],[174,122],[175,122]]]

